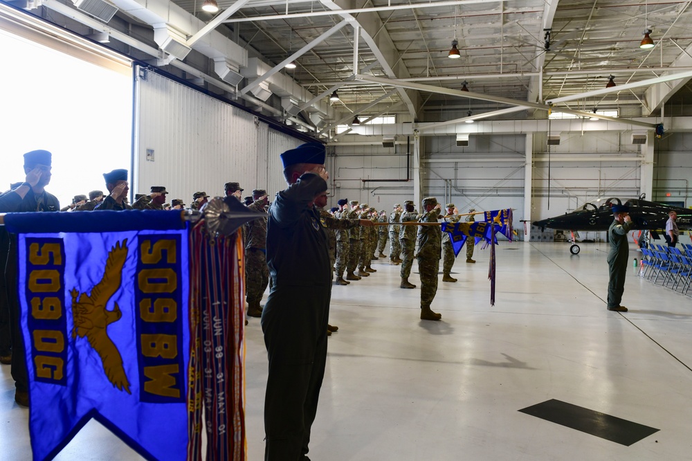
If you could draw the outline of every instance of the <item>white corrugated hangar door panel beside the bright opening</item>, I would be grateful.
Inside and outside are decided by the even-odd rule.
[[[143,69],[138,75],[133,194],[165,186],[168,201],[190,204],[196,191],[224,195],[229,181],[239,182],[244,195],[286,187],[279,155],[302,141],[162,75]]]

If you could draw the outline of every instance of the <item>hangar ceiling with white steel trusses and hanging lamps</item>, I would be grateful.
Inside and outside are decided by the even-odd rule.
[[[677,91],[689,94],[692,76],[691,1],[218,0],[213,14],[202,10],[203,0],[110,1],[119,8],[116,19],[134,27],[113,26],[113,19],[104,28],[147,44],[152,39],[142,30],[153,34],[167,27],[195,53],[218,63],[219,56],[199,45],[219,48],[214,37],[234,42],[236,54],[246,54],[227,62],[244,77],[237,90],[247,104],[273,107],[271,116],[298,121],[321,136],[356,114],[361,120],[399,114],[403,121],[437,122],[459,117],[451,111],[507,109],[494,118],[511,118],[517,116],[514,107],[529,111],[522,116],[545,118],[545,110],[534,109],[546,102],[555,111],[659,115]],[[36,0],[33,6],[51,14],[32,12],[55,20],[56,12],[75,8],[71,1],[60,8],[56,3]],[[71,17],[80,21],[81,15]],[[93,22],[86,25],[96,30]],[[642,49],[646,29],[654,46]],[[458,59],[448,57],[453,40]],[[117,35],[111,35],[113,42]],[[159,42],[154,47],[165,48]],[[282,63],[292,55],[297,66],[285,69]],[[200,67],[193,57],[182,61]],[[156,58],[164,67],[175,64],[161,50]],[[685,76],[664,81],[673,72]],[[262,75],[266,80],[260,83]],[[610,75],[615,87],[606,90]],[[473,99],[458,92],[464,85]],[[261,87],[273,93],[264,107],[253,91]],[[339,100],[331,102],[334,90]]]

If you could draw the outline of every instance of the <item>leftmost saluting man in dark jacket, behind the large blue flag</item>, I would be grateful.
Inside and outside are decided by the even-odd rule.
[[[0,213],[27,211],[60,211],[55,195],[46,192],[51,182],[52,155],[47,150],[33,150],[24,154],[26,181],[0,197]],[[10,312],[10,340],[12,341],[12,379],[15,380],[15,401],[29,406],[29,383],[26,372],[24,343],[19,325],[19,298],[17,296],[17,235],[10,234],[10,248],[5,268],[7,297]]]

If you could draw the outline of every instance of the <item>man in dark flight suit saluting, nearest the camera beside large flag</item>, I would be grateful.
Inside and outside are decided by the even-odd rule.
[[[281,159],[289,187],[269,208],[266,238],[264,459],[304,460],[327,360],[331,268],[327,229],[313,203],[329,175],[324,145],[303,144]]]

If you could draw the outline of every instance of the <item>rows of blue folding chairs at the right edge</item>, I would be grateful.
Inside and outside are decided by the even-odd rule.
[[[668,246],[659,248],[641,248],[639,275],[654,284],[692,296],[688,294],[692,284],[692,248],[685,248],[684,252]]]

